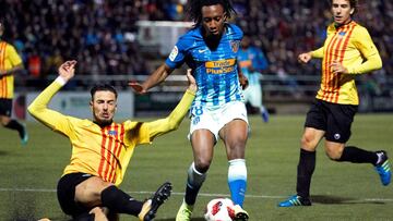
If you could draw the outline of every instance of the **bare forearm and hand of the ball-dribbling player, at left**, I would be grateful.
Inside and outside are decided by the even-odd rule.
[[[129,86],[132,87],[136,94],[145,94],[150,88],[155,87],[156,85],[164,82],[172,71],[172,69],[164,63],[157,70],[155,70],[144,83],[140,84],[138,82],[131,81],[129,82]]]

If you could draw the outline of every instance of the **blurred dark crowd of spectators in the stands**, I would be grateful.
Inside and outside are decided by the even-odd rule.
[[[332,22],[329,0],[234,0],[241,26],[266,54],[265,74],[319,75],[320,62],[299,65],[297,54],[322,46]],[[84,75],[150,74],[139,51],[136,21],[188,21],[187,0],[3,0],[4,39],[32,77],[45,79],[67,59]],[[355,16],[370,32],[381,57],[379,75],[393,74],[393,1],[359,1]],[[163,58],[160,58],[163,59]],[[317,69],[315,69],[317,67]]]

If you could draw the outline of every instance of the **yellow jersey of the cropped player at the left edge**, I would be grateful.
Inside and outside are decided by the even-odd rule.
[[[0,41],[0,71],[8,71],[20,64],[22,64],[22,59],[15,48],[5,41]],[[0,76],[0,98],[12,99],[13,87],[14,76],[12,73]]]

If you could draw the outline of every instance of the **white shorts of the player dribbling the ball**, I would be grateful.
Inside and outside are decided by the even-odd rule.
[[[241,101],[228,102],[218,109],[192,107],[190,133],[188,138],[191,138],[191,135],[194,131],[205,128],[212,132],[217,142],[219,138],[219,130],[223,128],[225,124],[235,119],[243,120],[247,124],[249,124],[247,119],[246,105]]]

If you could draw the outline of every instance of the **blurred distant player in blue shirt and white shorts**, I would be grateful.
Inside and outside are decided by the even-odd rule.
[[[250,36],[245,35],[238,54],[241,72],[248,78],[249,86],[243,90],[245,102],[258,108],[262,120],[269,121],[269,112],[262,105],[262,85],[260,75],[267,67],[267,60],[261,49],[251,45]]]

